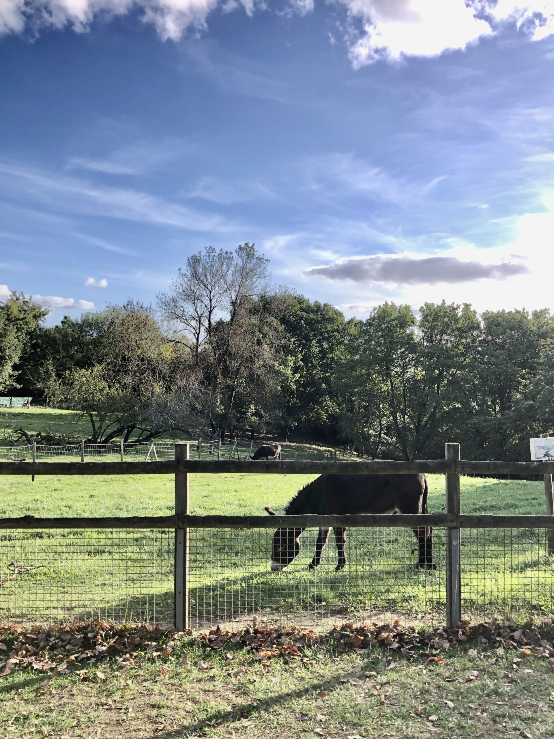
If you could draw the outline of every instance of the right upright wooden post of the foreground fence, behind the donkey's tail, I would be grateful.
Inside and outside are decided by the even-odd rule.
[[[459,444],[445,444],[445,458],[459,460]],[[448,472],[446,478],[446,513],[459,515],[459,474]],[[459,528],[446,529],[446,625],[462,620],[462,577]]]

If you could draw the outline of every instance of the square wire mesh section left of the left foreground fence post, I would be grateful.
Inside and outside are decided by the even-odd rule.
[[[0,531],[2,624],[173,616],[173,529]]]

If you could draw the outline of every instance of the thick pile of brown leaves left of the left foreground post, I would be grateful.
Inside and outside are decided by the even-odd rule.
[[[109,658],[122,667],[131,667],[138,655],[151,659],[171,655],[174,639],[179,636],[184,635],[159,625],[120,627],[105,621],[49,629],[0,627],[0,677],[10,675],[16,666],[57,677],[69,672],[70,666],[90,667]]]

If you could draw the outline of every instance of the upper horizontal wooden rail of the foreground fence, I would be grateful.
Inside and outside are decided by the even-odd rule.
[[[0,474],[554,474],[554,462],[471,462],[468,460],[186,460],[177,462],[0,462]]]

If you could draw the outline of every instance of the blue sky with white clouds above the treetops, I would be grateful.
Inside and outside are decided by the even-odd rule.
[[[554,0],[0,0],[0,299],[250,241],[347,316],[550,307],[553,79]]]

